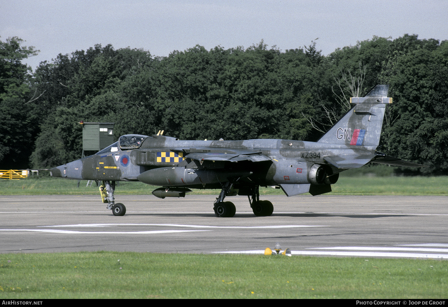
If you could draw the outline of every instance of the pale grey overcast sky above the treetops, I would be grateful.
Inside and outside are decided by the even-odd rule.
[[[168,56],[262,39],[284,51],[319,38],[327,55],[374,35],[448,39],[448,0],[0,0],[0,16],[0,40],[40,50],[26,60],[33,69],[95,44]]]

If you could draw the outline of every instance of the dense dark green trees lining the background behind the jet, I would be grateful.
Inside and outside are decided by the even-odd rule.
[[[417,172],[448,170],[447,41],[375,36],[328,56],[315,42],[282,52],[261,41],[163,58],[95,45],[42,62],[33,75],[21,60],[36,51],[21,44],[0,42],[0,169],[79,158],[81,120],[115,122],[116,138],[165,130],[182,139],[315,141],[349,97],[390,84],[380,151],[430,165]]]

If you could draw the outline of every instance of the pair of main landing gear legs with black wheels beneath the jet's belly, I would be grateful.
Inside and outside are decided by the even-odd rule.
[[[224,202],[225,196],[232,189],[233,183],[225,182],[221,190],[220,195],[215,200],[213,210],[215,211],[216,217],[233,217],[236,212],[235,205],[231,202]],[[249,198],[250,208],[256,216],[270,216],[274,211],[274,206],[269,200],[260,200],[260,193],[258,191],[258,186],[254,186],[251,189],[251,194],[247,197]]]

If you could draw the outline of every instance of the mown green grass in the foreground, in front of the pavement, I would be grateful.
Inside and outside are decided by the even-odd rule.
[[[447,298],[435,259],[190,255],[136,252],[0,254],[6,298]]]

